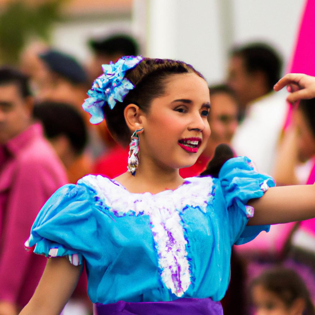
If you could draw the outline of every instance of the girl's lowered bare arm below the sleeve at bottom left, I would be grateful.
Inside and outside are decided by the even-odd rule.
[[[77,285],[81,266],[67,257],[49,258],[37,289],[20,315],[59,315]]]

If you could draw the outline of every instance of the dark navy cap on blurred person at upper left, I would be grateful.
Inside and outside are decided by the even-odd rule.
[[[39,57],[49,69],[72,83],[86,83],[87,74],[80,63],[71,55],[57,50],[48,50]]]

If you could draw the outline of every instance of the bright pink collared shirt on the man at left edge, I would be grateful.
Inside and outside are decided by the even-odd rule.
[[[42,205],[66,183],[39,123],[0,147],[0,301],[22,307],[34,293],[47,259],[24,242]]]

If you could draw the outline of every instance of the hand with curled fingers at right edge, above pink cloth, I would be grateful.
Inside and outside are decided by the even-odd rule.
[[[289,73],[275,84],[274,90],[280,91],[286,85],[291,92],[287,97],[287,101],[290,103],[315,97],[315,77],[302,73]]]

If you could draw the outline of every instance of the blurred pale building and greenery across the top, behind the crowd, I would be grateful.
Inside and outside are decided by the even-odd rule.
[[[14,55],[5,54],[6,47],[19,50],[22,44],[39,37],[86,63],[91,55],[87,45],[90,37],[127,32],[140,42],[143,55],[185,60],[200,70],[209,83],[220,82],[226,73],[228,50],[235,44],[266,41],[283,54],[287,63],[304,3],[304,0],[1,0],[0,59]]]

